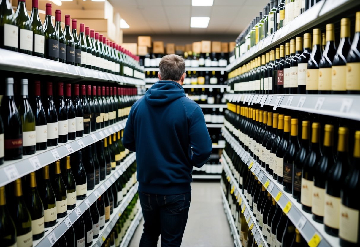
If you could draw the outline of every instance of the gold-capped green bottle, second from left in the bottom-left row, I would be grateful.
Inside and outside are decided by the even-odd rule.
[[[12,208],[12,218],[16,219],[16,240],[18,246],[32,246],[32,228],[30,212],[24,202],[21,179],[14,181],[14,202]]]

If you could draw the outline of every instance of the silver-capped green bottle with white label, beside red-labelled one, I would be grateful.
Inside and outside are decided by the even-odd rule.
[[[36,151],[35,116],[29,104],[28,81],[21,79],[22,102],[19,105],[19,114],[23,132],[23,155],[34,154]]]

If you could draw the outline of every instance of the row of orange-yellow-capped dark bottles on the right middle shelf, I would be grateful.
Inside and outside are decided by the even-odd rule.
[[[359,206],[353,195],[359,189],[360,131],[350,125],[354,153],[348,153],[348,127],[338,127],[337,153],[334,150],[335,118],[322,121],[298,118],[248,107],[236,107],[237,113],[225,111],[225,127],[251,157],[278,181],[289,196],[301,203],[303,211],[324,223],[325,232],[340,236],[341,245],[358,244]],[[289,112],[288,112],[289,113]],[[290,112],[294,113],[294,112]],[[293,115],[294,116],[294,115]],[[301,116],[300,116],[301,117]],[[301,121],[302,120],[302,121]],[[310,135],[311,127],[311,135]],[[354,131],[354,132],[353,132]],[[320,136],[324,142],[321,145]],[[245,178],[247,165],[227,146],[237,177]],[[350,157],[351,156],[351,157]],[[347,217],[349,216],[349,217]],[[340,229],[340,230],[339,230]]]

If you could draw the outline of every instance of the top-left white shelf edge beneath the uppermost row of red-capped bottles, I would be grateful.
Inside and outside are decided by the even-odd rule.
[[[58,76],[66,78],[65,80],[111,81],[120,85],[145,85],[143,79],[114,75],[5,49],[0,49],[0,68],[14,72]]]

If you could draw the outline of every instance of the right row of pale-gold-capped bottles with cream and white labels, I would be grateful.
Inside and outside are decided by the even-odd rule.
[[[336,49],[334,24],[286,42],[229,73],[236,93],[345,94],[360,92],[360,12],[356,12],[355,36],[350,42],[350,19],[341,19]]]

